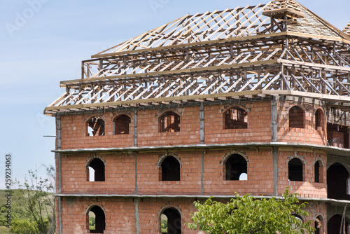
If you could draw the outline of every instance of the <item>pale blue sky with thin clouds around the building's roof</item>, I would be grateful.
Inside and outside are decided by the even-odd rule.
[[[55,119],[43,109],[64,92],[59,81],[80,78],[81,60],[187,13],[265,4],[228,0],[0,0],[0,188],[5,154],[13,178],[55,164]],[[349,0],[300,0],[344,29]]]

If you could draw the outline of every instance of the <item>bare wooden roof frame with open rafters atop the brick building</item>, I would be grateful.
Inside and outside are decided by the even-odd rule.
[[[332,101],[329,119],[342,118],[350,36],[294,0],[185,15],[93,55],[61,85],[48,115],[295,95]]]

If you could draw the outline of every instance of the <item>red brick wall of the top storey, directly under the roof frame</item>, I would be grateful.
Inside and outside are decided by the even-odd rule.
[[[248,128],[224,129],[224,112],[232,106],[204,106],[205,144],[230,144],[248,142],[271,142],[271,101],[251,102],[238,105],[248,111]],[[327,144],[326,128],[315,129],[315,112],[320,106],[300,104],[304,110],[304,128],[290,128],[288,111],[293,102],[279,102],[278,140],[288,143]],[[158,118],[167,109],[138,111],[137,146],[171,146],[200,144],[200,107],[186,106],[172,109],[181,116],[180,132],[160,132]],[[120,113],[97,115],[104,118],[105,135],[87,136],[86,121],[93,115],[62,116],[62,149],[123,148],[134,146],[134,116],[131,118],[130,134],[113,135],[113,118]],[[325,123],[325,116],[323,123]]]

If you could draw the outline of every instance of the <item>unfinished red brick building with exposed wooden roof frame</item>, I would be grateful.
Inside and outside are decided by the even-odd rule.
[[[194,234],[195,200],[289,187],[316,233],[349,234],[350,24],[294,0],[238,6],[185,15],[81,67],[45,109],[56,233]]]

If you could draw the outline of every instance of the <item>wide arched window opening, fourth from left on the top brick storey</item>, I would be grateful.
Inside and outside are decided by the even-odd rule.
[[[248,128],[248,113],[239,107],[233,107],[225,112],[225,129]]]

